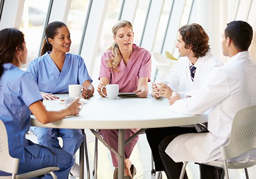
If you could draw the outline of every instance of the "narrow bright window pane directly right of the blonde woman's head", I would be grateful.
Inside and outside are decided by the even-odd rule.
[[[150,5],[149,0],[139,1],[139,5],[136,10],[136,16],[133,23],[133,31],[134,31],[134,43],[137,45],[140,44],[141,35],[145,26],[145,20],[146,20],[146,15],[147,15],[149,5]]]

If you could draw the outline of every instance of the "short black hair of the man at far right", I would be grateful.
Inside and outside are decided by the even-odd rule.
[[[247,51],[252,40],[252,27],[242,20],[234,20],[227,24],[224,31],[225,37],[229,37],[239,51]]]

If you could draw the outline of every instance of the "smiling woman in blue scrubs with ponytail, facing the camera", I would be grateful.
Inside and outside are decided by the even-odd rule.
[[[56,100],[53,94],[68,93],[69,84],[81,84],[85,86],[82,91],[83,98],[89,98],[94,93],[94,87],[84,60],[81,56],[68,53],[71,46],[71,38],[68,27],[54,21],[45,29],[41,56],[32,60],[27,72],[30,72],[38,84],[39,91],[45,100]],[[63,140],[62,149],[76,153],[83,141],[80,129],[56,129],[31,127],[37,141],[47,147],[60,148],[58,137]],[[75,171],[74,171],[75,170]],[[79,167],[75,163],[71,174],[78,177]]]

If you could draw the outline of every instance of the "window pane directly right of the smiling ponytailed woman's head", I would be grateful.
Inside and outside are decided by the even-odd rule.
[[[78,52],[89,3],[90,0],[76,0],[71,2],[67,20],[67,26],[72,40],[70,53],[76,54]]]

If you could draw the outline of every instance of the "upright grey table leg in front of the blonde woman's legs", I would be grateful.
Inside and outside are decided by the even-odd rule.
[[[118,129],[118,153],[121,157],[118,159],[118,179],[124,178],[124,132]]]

